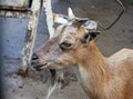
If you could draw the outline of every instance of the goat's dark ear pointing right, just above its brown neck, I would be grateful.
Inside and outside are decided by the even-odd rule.
[[[90,31],[83,36],[81,42],[84,43],[84,46],[88,46],[89,41],[95,39],[100,33],[100,31]]]

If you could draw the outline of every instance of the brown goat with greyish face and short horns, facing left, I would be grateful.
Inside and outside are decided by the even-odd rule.
[[[95,44],[100,32],[84,28],[88,20],[75,18],[72,11],[69,18],[34,52],[33,68],[72,67],[90,99],[133,99],[133,50],[122,49],[105,58]]]

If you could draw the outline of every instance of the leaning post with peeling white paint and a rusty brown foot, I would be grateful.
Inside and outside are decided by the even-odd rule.
[[[19,75],[24,76],[30,66],[30,60],[32,56],[32,49],[34,46],[39,16],[40,16],[40,10],[41,10],[41,2],[42,2],[41,0],[32,1],[31,14],[29,18],[29,22],[27,27],[27,34],[24,39],[24,47],[22,49],[22,59],[21,59],[19,71],[18,71]]]

